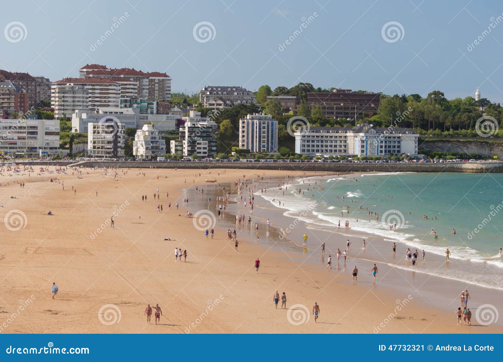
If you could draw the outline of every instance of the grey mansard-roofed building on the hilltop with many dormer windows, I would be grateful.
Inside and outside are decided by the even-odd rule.
[[[213,110],[229,108],[235,104],[258,104],[253,92],[239,86],[207,86],[199,91],[201,103]]]

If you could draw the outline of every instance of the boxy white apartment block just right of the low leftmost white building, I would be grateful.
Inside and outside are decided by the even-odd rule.
[[[89,123],[88,154],[96,158],[124,157],[125,130],[114,116]]]

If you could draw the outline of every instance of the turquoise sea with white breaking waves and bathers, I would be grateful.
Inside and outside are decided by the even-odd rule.
[[[422,265],[415,270],[503,290],[503,258],[497,255],[503,247],[501,174],[374,173],[309,177],[295,180],[281,193],[272,188],[267,194],[256,194],[268,201],[275,199],[276,206],[280,199],[286,205],[279,206],[285,215],[314,228],[369,240],[383,238],[385,242],[404,244],[420,253],[424,249],[428,256],[437,259],[445,259],[449,248],[448,267]],[[379,220],[368,215],[369,211],[379,214]],[[344,227],[346,221],[350,222],[350,232]],[[390,225],[395,224],[396,229],[390,230]],[[432,229],[438,238],[433,237]],[[399,251],[405,249],[401,247]],[[405,263],[397,267],[411,268]]]

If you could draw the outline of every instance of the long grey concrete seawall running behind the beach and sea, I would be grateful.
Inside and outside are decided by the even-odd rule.
[[[43,164],[43,163],[41,163]],[[45,163],[44,163],[45,164]],[[83,167],[121,168],[179,168],[179,169],[243,169],[243,170],[287,170],[322,172],[467,172],[503,173],[503,162],[451,162],[451,163],[297,163],[297,162],[119,162],[85,161]]]

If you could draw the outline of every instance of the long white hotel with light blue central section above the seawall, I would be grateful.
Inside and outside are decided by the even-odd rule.
[[[417,155],[419,135],[408,128],[311,127],[295,133],[295,152],[306,156]]]

